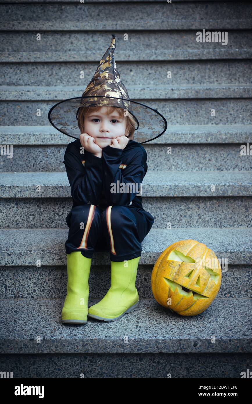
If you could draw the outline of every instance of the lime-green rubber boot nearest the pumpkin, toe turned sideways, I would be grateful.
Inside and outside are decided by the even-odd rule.
[[[111,286],[99,303],[89,307],[88,317],[112,321],[138,308],[139,296],[135,282],[139,259],[111,261]]]

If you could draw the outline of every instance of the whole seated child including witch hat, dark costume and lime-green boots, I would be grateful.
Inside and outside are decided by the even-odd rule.
[[[76,129],[80,133],[69,143],[64,156],[73,198],[66,217],[67,296],[61,313],[65,323],[86,323],[87,316],[117,320],[137,309],[135,281],[141,242],[154,222],[153,216],[143,209],[139,191],[147,172],[147,153],[133,140],[133,134],[139,122],[144,128],[147,121],[148,130],[158,137],[167,123],[164,128],[164,117],[143,104],[135,103],[139,105],[134,107],[133,114],[132,101],[116,69],[114,48],[112,35],[111,45],[78,100],[78,127],[67,116],[72,114],[69,102],[73,99],[64,101],[68,102],[64,108],[61,103],[56,104],[48,114],[50,120],[50,113],[56,108],[53,122],[60,127],[50,120],[53,126],[69,136],[76,134]],[[160,135],[157,128],[164,128]],[[109,251],[111,286],[103,299],[88,309],[88,278],[94,251]]]

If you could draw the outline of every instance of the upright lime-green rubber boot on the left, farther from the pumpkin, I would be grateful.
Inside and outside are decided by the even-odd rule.
[[[67,296],[61,312],[61,321],[84,324],[88,321],[88,278],[91,258],[80,251],[67,254]]]

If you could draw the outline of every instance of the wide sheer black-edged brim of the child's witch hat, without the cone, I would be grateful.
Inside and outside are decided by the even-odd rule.
[[[53,105],[48,112],[48,120],[55,129],[74,139],[80,138],[78,113],[82,107],[112,106],[128,110],[132,114],[136,127],[134,141],[147,143],[163,135],[167,129],[167,121],[157,109],[142,103],[118,97],[74,97]]]

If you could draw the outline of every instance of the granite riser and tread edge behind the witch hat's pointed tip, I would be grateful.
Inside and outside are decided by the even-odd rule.
[[[13,9],[12,9],[13,10]],[[226,18],[226,17],[225,17]],[[99,24],[101,22],[99,21]],[[106,22],[107,23],[107,22]],[[64,22],[65,24],[65,22]],[[83,27],[83,20],[81,22]],[[207,24],[209,25],[209,23]],[[214,30],[222,30],[221,24]],[[117,61],[145,60],[206,60],[206,59],[251,59],[251,33],[248,30],[229,29],[228,44],[221,42],[197,42],[196,30],[205,28],[202,23],[192,30],[130,32],[130,40],[113,29],[117,38]],[[15,28],[15,27],[14,27]],[[16,27],[17,29],[17,27]],[[120,27],[122,29],[122,27]],[[163,28],[162,28],[163,29]],[[99,61],[111,39],[111,29],[103,32],[44,31],[42,39],[36,40],[31,32],[5,31],[0,33],[0,59],[2,62],[72,62]],[[35,40],[34,40],[35,38]],[[162,43],[162,47],[160,47]],[[8,44],[8,46],[6,46]],[[74,45],[73,45],[74,44]],[[150,46],[151,44],[151,46]],[[231,45],[230,45],[231,44]],[[85,46],[85,47],[84,47]],[[155,52],[153,52],[155,49]]]

